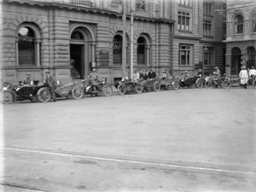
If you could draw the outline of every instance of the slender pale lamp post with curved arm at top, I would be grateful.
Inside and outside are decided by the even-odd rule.
[[[147,3],[154,3],[154,2],[147,2]],[[143,3],[141,4],[137,9],[140,9],[143,5],[147,4]],[[159,3],[155,3],[159,5]],[[131,79],[132,79],[132,73],[133,73],[133,20],[134,20],[134,14],[136,13],[137,9],[135,9],[136,5],[133,5],[133,1],[131,1]]]

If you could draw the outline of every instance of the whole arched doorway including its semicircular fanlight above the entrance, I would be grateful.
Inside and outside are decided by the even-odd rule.
[[[73,27],[70,34],[70,66],[73,79],[84,79],[90,74],[91,65],[95,63],[94,39],[84,26]]]

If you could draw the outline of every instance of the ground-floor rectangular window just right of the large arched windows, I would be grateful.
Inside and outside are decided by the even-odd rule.
[[[179,45],[178,49],[178,63],[179,65],[189,66],[191,65],[191,56],[192,56],[192,46],[191,45]]]

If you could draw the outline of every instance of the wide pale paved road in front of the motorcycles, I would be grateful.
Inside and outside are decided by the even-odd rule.
[[[255,94],[182,89],[3,105],[0,186],[256,191]]]

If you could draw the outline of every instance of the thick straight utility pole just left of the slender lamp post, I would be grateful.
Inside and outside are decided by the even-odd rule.
[[[123,42],[122,42],[122,74],[128,77],[126,72],[126,0],[123,0]]]

